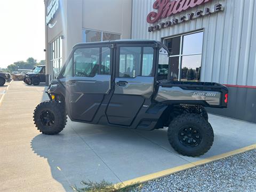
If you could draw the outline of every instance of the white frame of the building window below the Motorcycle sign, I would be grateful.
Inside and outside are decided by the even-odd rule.
[[[192,34],[196,34],[196,33],[201,33],[201,32],[203,33],[203,43],[202,43],[202,51],[201,51],[201,53],[182,54],[182,51],[183,51],[183,38],[184,38],[184,36],[192,35]],[[204,47],[204,29],[199,29],[199,30],[196,30],[196,31],[190,31],[189,33],[183,33],[183,34],[179,34],[179,35],[164,37],[164,38],[162,38],[162,42],[164,44],[166,44],[166,40],[167,39],[174,38],[174,37],[181,37],[180,38],[180,52],[177,55],[170,55],[169,57],[170,58],[171,57],[179,57],[179,77],[178,77],[178,81],[180,81],[181,73],[182,73],[182,70],[181,70],[181,67],[182,67],[182,57],[184,57],[184,56],[191,56],[191,55],[201,55],[201,69],[202,69],[203,47]],[[199,74],[200,77],[201,77],[201,71],[200,71],[200,74]],[[171,70],[170,70],[170,65],[169,65],[169,71],[168,71],[168,77],[167,77],[168,79],[170,79],[170,72],[171,72]],[[199,78],[198,81],[201,81],[201,79]]]

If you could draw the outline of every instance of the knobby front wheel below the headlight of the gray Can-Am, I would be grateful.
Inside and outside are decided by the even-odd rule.
[[[65,105],[59,102],[45,101],[34,110],[34,124],[43,134],[58,134],[67,123]]]

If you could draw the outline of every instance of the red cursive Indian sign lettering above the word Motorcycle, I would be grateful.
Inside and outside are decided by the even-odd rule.
[[[157,12],[150,12],[147,16],[147,22],[155,23],[160,19],[210,1],[212,0],[156,0],[153,9]]]

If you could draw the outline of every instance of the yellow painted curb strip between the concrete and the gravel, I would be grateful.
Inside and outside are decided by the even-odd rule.
[[[241,153],[244,153],[245,151],[249,151],[249,150],[252,150],[252,149],[256,149],[256,144],[251,145],[251,146],[247,146],[247,147],[243,147],[243,148],[240,148],[240,149],[236,149],[236,150],[230,151],[228,153],[224,153],[224,154],[215,155],[215,156],[212,156],[212,157],[209,157],[209,158],[205,158],[205,159],[202,159],[200,161],[188,163],[188,164],[185,164],[185,165],[180,165],[180,166],[177,166],[177,167],[173,167],[171,169],[167,169],[167,170],[159,171],[159,172],[156,172],[156,173],[151,173],[151,174],[148,174],[148,175],[144,175],[142,177],[138,177],[138,178],[135,178],[135,179],[127,180],[127,181],[124,181],[124,182],[121,182],[121,183],[117,183],[114,186],[122,185],[122,186],[125,187],[127,185],[132,185],[134,183],[147,182],[147,181],[150,181],[150,180],[153,180],[153,179],[158,179],[158,178],[161,178],[161,177],[165,177],[167,175],[170,175],[170,174],[173,174],[173,173],[176,173],[176,172],[179,172],[179,171],[187,170],[189,168],[193,168],[193,167],[196,167],[196,166],[199,166],[199,165],[204,165],[206,163],[214,162],[214,161],[217,161],[217,160],[222,159],[222,158],[226,158],[226,157],[230,157],[230,156],[233,156],[233,155],[241,154]]]

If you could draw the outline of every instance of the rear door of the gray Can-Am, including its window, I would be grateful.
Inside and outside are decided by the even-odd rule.
[[[155,54],[154,54],[155,53]],[[156,48],[146,44],[116,47],[115,90],[106,114],[110,124],[130,126],[154,91]]]

